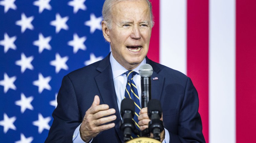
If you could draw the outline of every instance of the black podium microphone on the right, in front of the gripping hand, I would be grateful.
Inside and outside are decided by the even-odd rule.
[[[162,108],[159,100],[151,99],[148,102],[148,117],[150,122],[148,129],[154,135],[154,139],[160,141],[160,134],[164,130],[163,121],[160,120],[162,116]]]

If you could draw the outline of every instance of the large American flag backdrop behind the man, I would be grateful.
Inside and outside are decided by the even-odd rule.
[[[151,0],[148,57],[191,77],[209,143],[255,142],[256,1]],[[0,0],[0,142],[44,142],[67,73],[110,51],[104,0]]]

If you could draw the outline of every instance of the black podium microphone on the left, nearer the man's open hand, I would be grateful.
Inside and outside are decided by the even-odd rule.
[[[125,98],[121,102],[120,114],[123,118],[120,129],[123,131],[123,140],[124,142],[131,139],[131,135],[135,129],[134,121],[132,120],[135,107],[134,101],[130,98]]]

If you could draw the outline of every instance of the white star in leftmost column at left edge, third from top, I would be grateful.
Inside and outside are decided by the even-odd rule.
[[[4,86],[4,92],[8,92],[9,89],[16,90],[16,86],[14,85],[14,81],[16,80],[16,76],[9,77],[6,73],[4,73],[4,80],[0,81],[0,85]]]

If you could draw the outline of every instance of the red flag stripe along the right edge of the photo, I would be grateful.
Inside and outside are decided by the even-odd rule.
[[[236,0],[236,142],[255,142],[256,1]]]

